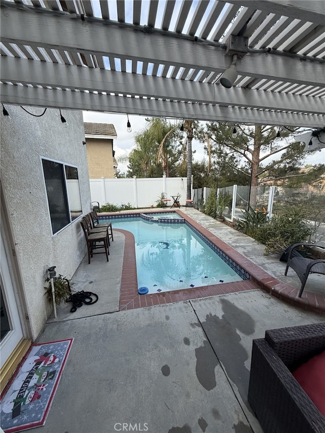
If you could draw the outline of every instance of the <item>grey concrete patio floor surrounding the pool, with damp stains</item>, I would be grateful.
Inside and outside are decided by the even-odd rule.
[[[182,209],[270,275],[284,263],[264,247],[194,209]],[[76,290],[98,303],[70,313],[58,309],[38,342],[74,338],[46,424],[47,433],[262,432],[247,403],[252,340],[266,329],[322,322],[260,290],[119,311],[124,236],[114,232],[110,260],[86,257],[73,277]],[[321,291],[313,276],[305,290]],[[321,278],[321,277],[320,277]]]

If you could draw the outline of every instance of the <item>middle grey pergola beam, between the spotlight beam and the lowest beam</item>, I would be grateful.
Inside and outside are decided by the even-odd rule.
[[[230,105],[266,110],[325,114],[320,98],[281,94],[240,87],[226,89],[220,84],[171,80],[168,78],[82,68],[59,63],[41,62],[4,56],[1,79],[12,83],[29,83],[42,87],[87,89],[132,96],[147,96],[177,101]],[[263,102],[263,104],[262,104]]]

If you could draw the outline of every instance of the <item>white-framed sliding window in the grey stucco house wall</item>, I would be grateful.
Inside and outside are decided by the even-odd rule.
[[[78,169],[49,159],[42,164],[54,235],[82,215]]]

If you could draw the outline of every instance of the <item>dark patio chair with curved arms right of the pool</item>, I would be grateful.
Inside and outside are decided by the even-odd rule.
[[[305,284],[307,282],[307,278],[309,274],[324,274],[325,275],[325,260],[313,260],[311,258],[305,258],[300,254],[296,253],[296,247],[317,247],[322,248],[325,251],[325,247],[315,244],[294,244],[291,245],[288,252],[288,261],[286,264],[284,275],[287,274],[288,268],[292,268],[298,275],[301,281],[301,288],[299,292],[299,297],[303,294]]]

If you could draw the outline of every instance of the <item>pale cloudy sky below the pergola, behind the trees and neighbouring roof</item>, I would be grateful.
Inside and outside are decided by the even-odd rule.
[[[129,115],[128,118],[131,123],[132,132],[127,132],[126,114],[83,111],[84,122],[112,123],[114,125],[117,134],[117,139],[114,140],[113,144],[116,158],[123,155],[128,155],[131,152],[135,144],[134,135],[146,126],[146,117],[148,116]],[[174,120],[171,121],[174,122]],[[192,150],[195,151],[193,153],[194,161],[202,161],[202,159],[208,159],[208,156],[204,153],[203,144],[201,144],[197,140],[192,141]],[[305,164],[325,164],[325,148],[321,149],[320,152],[315,152],[313,155],[308,155],[308,152],[306,152]],[[119,162],[118,169],[121,173],[126,173],[127,165]]]

